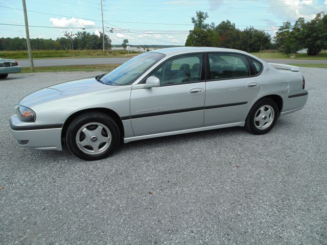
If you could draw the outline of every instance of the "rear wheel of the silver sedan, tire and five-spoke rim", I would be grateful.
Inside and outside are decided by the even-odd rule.
[[[252,134],[266,134],[275,125],[279,109],[275,101],[262,99],[254,104],[245,120],[245,128]]]

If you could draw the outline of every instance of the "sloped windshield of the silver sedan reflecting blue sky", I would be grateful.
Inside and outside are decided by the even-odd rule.
[[[107,85],[130,85],[165,55],[149,52],[138,55],[101,78]]]

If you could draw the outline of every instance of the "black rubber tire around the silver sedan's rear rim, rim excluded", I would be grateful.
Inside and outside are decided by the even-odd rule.
[[[262,106],[271,106],[274,110],[274,119],[272,121],[272,124],[266,128],[266,129],[258,129],[256,128],[254,124],[254,117],[255,113],[259,110]],[[245,126],[248,131],[250,131],[253,134],[266,134],[268,133],[275,125],[277,118],[279,115],[279,109],[275,101],[269,98],[262,99],[254,104],[254,106],[251,108],[245,122]]]

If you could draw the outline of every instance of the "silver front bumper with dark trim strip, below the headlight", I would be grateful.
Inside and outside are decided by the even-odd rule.
[[[39,150],[62,151],[61,131],[62,125],[42,125],[22,122],[17,115],[9,120],[11,133],[20,146]]]

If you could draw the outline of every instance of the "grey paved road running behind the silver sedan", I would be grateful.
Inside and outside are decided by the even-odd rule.
[[[123,64],[131,58],[74,58],[74,59],[34,59],[34,66],[58,66],[58,65],[101,65]],[[281,64],[327,64],[327,60],[292,60],[292,59],[264,59],[270,63]],[[18,60],[21,67],[29,67],[29,60]]]

